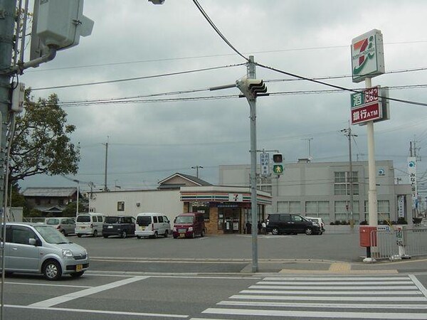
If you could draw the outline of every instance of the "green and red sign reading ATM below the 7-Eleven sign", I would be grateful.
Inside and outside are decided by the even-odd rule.
[[[363,92],[353,93],[351,97],[352,124],[362,124],[382,118],[379,86],[371,87]]]

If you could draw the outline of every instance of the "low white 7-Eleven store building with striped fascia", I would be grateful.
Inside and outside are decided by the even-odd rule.
[[[263,191],[257,196],[258,220],[263,220],[271,196]],[[201,212],[208,234],[244,233],[251,219],[251,189],[214,186],[195,176],[176,173],[159,181],[154,190],[94,192],[90,210],[105,215],[164,213],[172,223],[180,213]]]

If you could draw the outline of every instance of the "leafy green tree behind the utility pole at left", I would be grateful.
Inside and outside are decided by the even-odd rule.
[[[36,174],[77,174],[80,147],[69,137],[75,126],[67,124],[67,113],[58,102],[55,94],[34,102],[31,89],[26,90],[24,112],[16,116],[9,183]]]

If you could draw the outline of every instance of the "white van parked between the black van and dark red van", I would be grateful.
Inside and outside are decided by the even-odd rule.
[[[163,213],[138,213],[135,225],[135,235],[141,237],[157,238],[163,235],[165,238],[171,234],[171,224]]]

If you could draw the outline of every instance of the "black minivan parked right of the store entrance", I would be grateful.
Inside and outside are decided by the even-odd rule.
[[[305,233],[306,235],[321,235],[320,225],[295,215],[293,213],[272,213],[267,218],[267,233],[279,235],[280,233]]]

